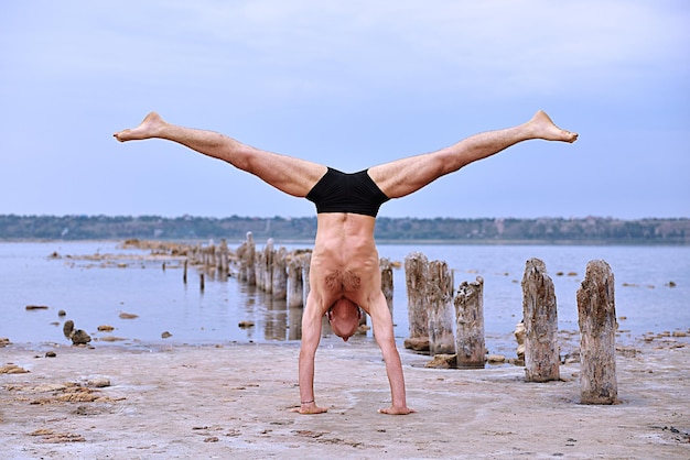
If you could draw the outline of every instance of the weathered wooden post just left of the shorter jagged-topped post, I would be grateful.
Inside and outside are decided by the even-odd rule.
[[[453,278],[448,264],[442,261],[429,263],[427,305],[429,310],[429,354],[455,352],[453,337]]]

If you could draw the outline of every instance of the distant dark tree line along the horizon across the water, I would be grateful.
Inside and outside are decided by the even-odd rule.
[[[0,215],[0,240],[255,240],[311,241],[316,218],[208,218],[182,216],[17,216]],[[610,243],[690,244],[690,219],[587,217],[578,219],[416,219],[380,217],[378,241],[444,243]]]

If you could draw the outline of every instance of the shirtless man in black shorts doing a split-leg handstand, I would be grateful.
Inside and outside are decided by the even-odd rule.
[[[474,134],[450,147],[355,174],[261,151],[220,133],[170,124],[154,112],[139,127],[120,131],[115,138],[120,142],[152,138],[173,141],[230,163],[285,194],[314,201],[317,228],[310,271],[311,291],[302,316],[298,412],[327,410],[317,406],[314,397],[314,357],[321,340],[322,317],[326,315],[333,332],[347,341],[357,330],[362,308],[371,317],[390,384],[391,405],[379,412],[405,415],[414,410],[407,406],[392,318],[381,293],[379,258],[374,243],[379,206],[518,142],[533,139],[574,142],[578,134],[561,130],[543,111],[538,111],[517,127]]]

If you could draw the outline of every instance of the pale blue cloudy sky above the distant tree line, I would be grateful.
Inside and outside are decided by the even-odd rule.
[[[149,111],[355,172],[546,110],[529,141],[381,207],[411,218],[690,217],[686,0],[0,3],[0,215],[305,217]]]

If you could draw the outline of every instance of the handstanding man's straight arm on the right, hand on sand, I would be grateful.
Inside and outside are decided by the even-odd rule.
[[[374,326],[374,337],[381,349],[384,361],[386,362],[386,373],[388,374],[388,383],[390,384],[391,405],[381,408],[381,414],[407,415],[417,410],[407,406],[407,397],[405,392],[405,376],[402,374],[402,363],[400,354],[396,347],[396,338],[392,329],[392,318],[390,310],[386,304],[386,297],[380,293],[374,305],[371,305],[369,315]]]

